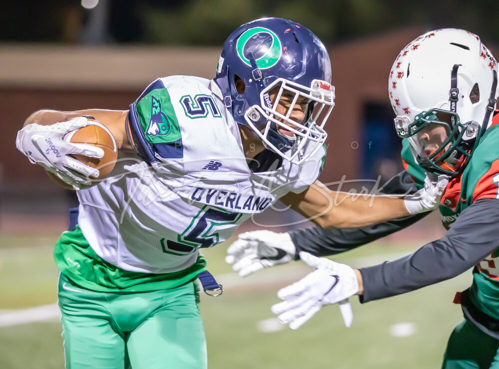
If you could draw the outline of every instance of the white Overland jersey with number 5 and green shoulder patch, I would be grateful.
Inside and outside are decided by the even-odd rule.
[[[315,182],[325,155],[321,149],[299,166],[278,165],[265,150],[251,170],[238,123],[215,82],[204,78],[154,81],[131,105],[129,119],[143,139],[132,144],[149,153],[149,162],[120,152],[108,179],[77,192],[78,224],[89,245],[128,271],[190,267],[199,248],[227,240],[252,214]]]

